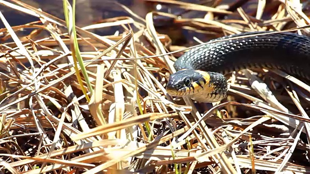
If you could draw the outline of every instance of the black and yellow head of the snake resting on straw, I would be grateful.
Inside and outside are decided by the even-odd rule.
[[[166,90],[175,97],[188,96],[197,102],[217,102],[226,97],[228,87],[220,73],[182,69],[170,75]]]

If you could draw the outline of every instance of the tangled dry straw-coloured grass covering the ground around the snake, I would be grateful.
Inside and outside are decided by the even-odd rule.
[[[209,38],[256,30],[309,34],[310,11],[303,7],[310,3],[274,0],[271,7],[259,0],[255,13],[247,14],[242,1],[210,1],[208,7],[145,1],[206,15],[153,12],[141,18],[115,2],[128,16],[74,28],[74,4],[64,3],[63,21],[20,1],[0,0],[38,17],[10,26],[0,13],[1,172],[309,173],[310,87],[280,71],[252,69],[228,74],[230,95],[212,106],[172,99],[167,78],[175,72],[174,56],[187,48],[156,32],[153,16],[174,18],[171,25]],[[263,14],[270,15],[263,20]],[[229,18],[218,18],[223,15]],[[124,32],[89,31],[111,26]],[[19,37],[22,29],[32,32]]]

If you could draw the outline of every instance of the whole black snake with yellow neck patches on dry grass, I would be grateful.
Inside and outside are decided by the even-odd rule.
[[[254,31],[210,40],[174,62],[167,94],[219,102],[229,90],[225,75],[250,68],[278,69],[310,79],[310,37],[294,32]]]

